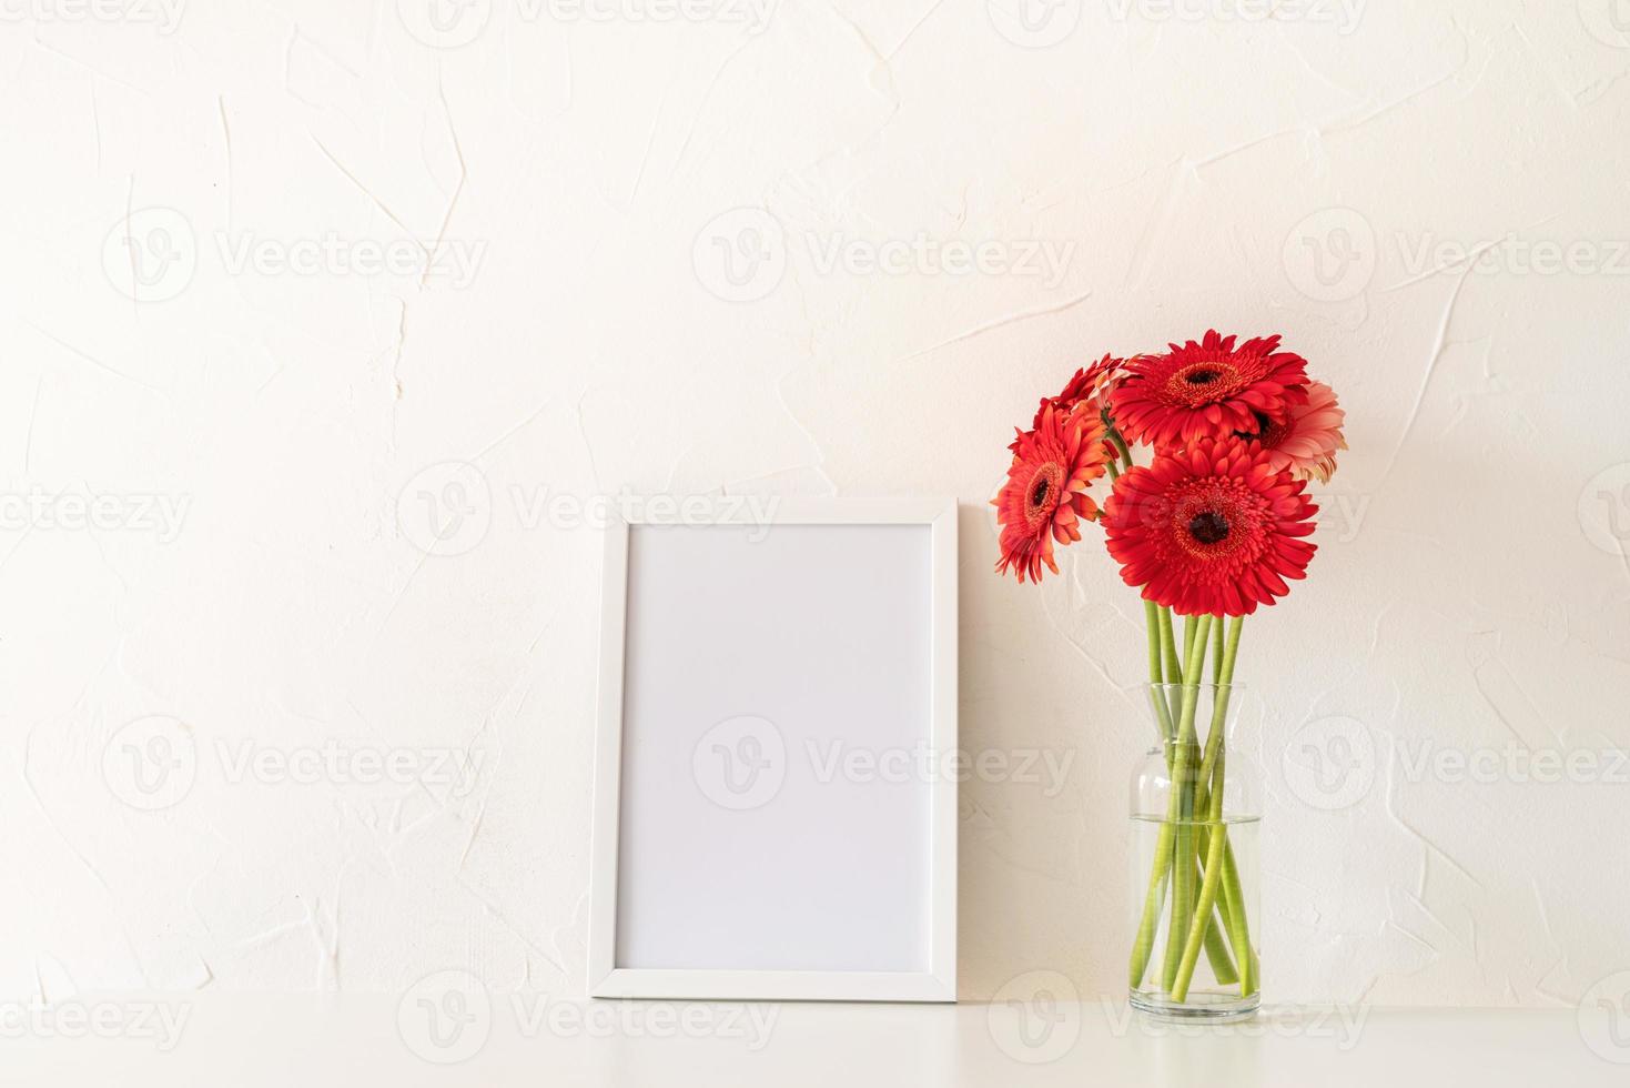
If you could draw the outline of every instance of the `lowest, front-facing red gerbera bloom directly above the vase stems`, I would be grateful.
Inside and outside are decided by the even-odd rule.
[[[1182,615],[1249,615],[1306,576],[1319,507],[1273,452],[1198,439],[1115,481],[1105,543],[1121,579]]]

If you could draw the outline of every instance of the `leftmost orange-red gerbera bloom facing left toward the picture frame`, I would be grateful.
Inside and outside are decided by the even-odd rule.
[[[1099,504],[1086,494],[1104,475],[1110,453],[1104,442],[1104,419],[1097,401],[1082,401],[1069,414],[1043,406],[1035,431],[1020,432],[1014,442],[1014,463],[1007,483],[991,506],[1002,527],[1002,558],[996,573],[1014,569],[1019,581],[1042,581],[1042,564],[1053,574],[1053,542],[1081,540],[1081,517],[1097,517]]]

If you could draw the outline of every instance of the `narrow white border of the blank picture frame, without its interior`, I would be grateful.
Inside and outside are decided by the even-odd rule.
[[[936,750],[957,749],[957,502],[955,499],[769,499],[771,525],[927,525],[931,708]],[[706,520],[755,522],[753,507],[709,501]],[[760,507],[763,509],[763,507]],[[593,845],[590,850],[588,993],[675,1000],[955,1002],[957,1000],[957,783],[936,776],[929,817],[929,969],[867,971],[662,971],[616,966],[618,820],[623,789],[623,649],[628,626],[629,525],[675,519],[632,514],[605,532],[600,587],[600,713],[595,737]]]

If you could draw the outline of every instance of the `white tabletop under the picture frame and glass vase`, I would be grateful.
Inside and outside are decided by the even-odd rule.
[[[1630,1024],[1617,1034],[1589,1018],[1581,1026],[1575,1010],[1271,1008],[1250,1023],[1175,1028],[1118,1002],[688,1005],[494,993],[484,1011],[463,1008],[461,1031],[442,1010],[432,1039],[421,997],[77,998],[85,1019],[103,1018],[104,1036],[72,1013],[62,1026],[21,1023],[11,1006],[0,1023],[0,1083],[1630,1085]],[[176,1039],[165,1024],[178,1018]]]

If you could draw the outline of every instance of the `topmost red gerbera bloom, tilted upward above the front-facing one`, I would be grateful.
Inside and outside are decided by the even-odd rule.
[[[1170,344],[1164,356],[1126,364],[1110,393],[1115,426],[1126,437],[1167,449],[1201,436],[1255,434],[1258,416],[1281,422],[1307,401],[1307,360],[1280,351],[1280,338],[1249,339],[1206,333],[1198,344]]]

